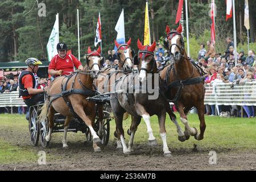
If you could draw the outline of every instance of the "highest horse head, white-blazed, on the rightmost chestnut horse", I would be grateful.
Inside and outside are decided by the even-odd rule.
[[[164,47],[168,49],[171,58],[175,62],[179,61],[184,56],[184,40],[181,32],[181,24],[179,24],[179,27],[176,30],[170,30],[168,25],[166,26],[167,36],[164,39]]]

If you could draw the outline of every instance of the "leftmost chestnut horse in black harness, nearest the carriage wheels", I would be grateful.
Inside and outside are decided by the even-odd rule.
[[[59,76],[49,85],[47,90],[48,99],[42,107],[39,116],[40,120],[48,118],[49,132],[46,136],[47,142],[51,140],[54,115],[55,113],[60,113],[66,117],[62,143],[64,148],[68,147],[68,125],[74,115],[77,115],[85,122],[85,125],[89,127],[93,138],[94,151],[101,151],[101,148],[97,146],[97,143],[100,142],[100,138],[93,129],[94,119],[96,117],[96,103],[86,101],[86,97],[95,95],[93,80],[100,71],[102,60],[100,52],[100,47],[97,51],[91,51],[90,47],[88,47],[86,67],[83,72],[75,72],[73,75],[69,76]]]

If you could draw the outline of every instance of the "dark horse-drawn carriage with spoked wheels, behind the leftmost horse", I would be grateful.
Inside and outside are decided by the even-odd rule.
[[[109,142],[109,133],[110,133],[110,121],[112,121],[112,117],[109,113],[109,101],[108,96],[104,97],[90,97],[88,98],[90,101],[95,101],[98,104],[104,104],[104,117],[102,121],[103,132],[98,133],[100,130],[100,121],[98,117],[98,113],[96,114],[96,119],[94,123],[94,130],[98,133],[101,144],[106,146]],[[38,103],[37,105],[31,106],[29,110],[29,124],[28,129],[30,132],[30,140],[33,146],[38,146],[39,139],[42,147],[46,148],[49,146],[49,142],[46,141],[46,135],[49,131],[48,127],[48,119],[44,119],[39,121],[40,109],[44,105],[44,103]],[[59,113],[56,113],[54,116],[54,126],[53,133],[59,133],[64,131],[64,121],[65,117]],[[77,131],[81,131],[85,134],[85,139],[87,143],[92,143],[92,134],[90,133],[89,127],[85,125],[84,121],[78,116],[74,117],[72,121],[69,123],[68,131],[72,131],[77,133]]]

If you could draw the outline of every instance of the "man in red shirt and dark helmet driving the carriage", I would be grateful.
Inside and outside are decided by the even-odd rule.
[[[84,70],[82,64],[75,56],[67,53],[67,45],[65,43],[57,44],[58,54],[55,55],[51,63],[49,63],[48,73],[52,76],[69,75],[75,72],[75,67],[79,71]]]

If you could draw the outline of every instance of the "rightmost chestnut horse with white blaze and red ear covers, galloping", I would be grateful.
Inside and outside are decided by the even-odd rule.
[[[168,26],[166,27],[167,37],[164,39],[164,46],[171,55],[172,64],[160,72],[160,77],[166,82],[166,97],[175,103],[180,114],[180,120],[185,125],[185,138],[189,139],[192,135],[195,139],[201,140],[204,138],[206,127],[203,71],[192,64],[187,56],[181,31],[181,24],[177,30],[171,31]],[[195,127],[190,127],[188,124],[187,114],[192,107],[196,107],[199,115],[200,134],[197,134]],[[179,133],[183,134],[183,131],[181,130]]]

